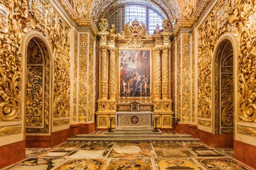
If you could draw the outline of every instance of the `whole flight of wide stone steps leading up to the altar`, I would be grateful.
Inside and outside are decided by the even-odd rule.
[[[115,132],[79,134],[68,141],[199,141],[189,134],[153,132],[153,128],[116,129]]]

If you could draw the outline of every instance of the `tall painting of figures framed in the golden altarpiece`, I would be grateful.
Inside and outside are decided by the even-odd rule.
[[[120,97],[149,97],[151,84],[151,52],[120,51]]]

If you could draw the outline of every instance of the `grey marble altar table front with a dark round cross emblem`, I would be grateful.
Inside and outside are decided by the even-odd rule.
[[[117,127],[153,127],[152,111],[120,111],[116,114]]]

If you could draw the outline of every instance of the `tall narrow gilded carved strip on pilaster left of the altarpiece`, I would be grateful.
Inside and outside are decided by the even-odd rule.
[[[87,116],[87,62],[88,62],[88,35],[80,34],[79,37],[79,122],[85,122]]]

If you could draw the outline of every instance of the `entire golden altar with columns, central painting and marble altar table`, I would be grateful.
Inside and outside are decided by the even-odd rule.
[[[108,23],[102,21],[101,26],[108,28]],[[101,62],[97,129],[152,127],[153,119],[158,128],[172,128],[172,33],[167,31],[168,20],[164,26],[166,31],[149,36],[145,25],[135,19],[132,25],[126,23],[122,34],[113,29],[98,32]]]

